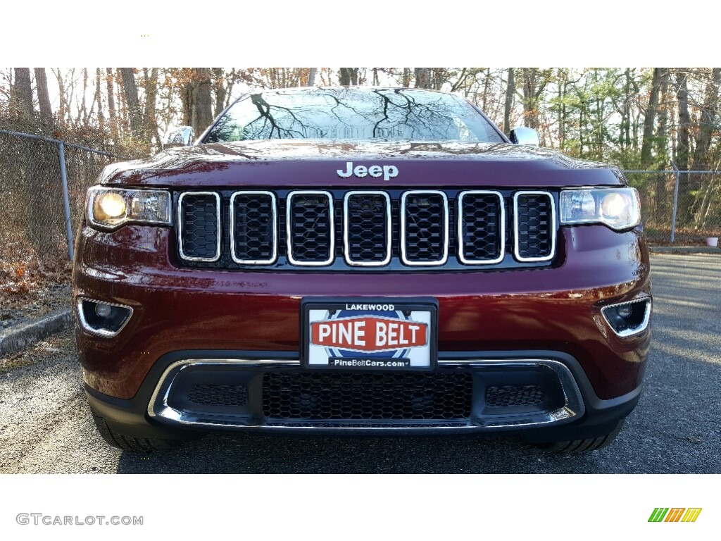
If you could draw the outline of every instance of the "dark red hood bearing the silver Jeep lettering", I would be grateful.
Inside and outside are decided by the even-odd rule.
[[[346,172],[362,166],[361,175]],[[394,175],[363,175],[379,166]],[[393,169],[394,168],[394,169]],[[148,160],[110,164],[102,184],[158,187],[396,188],[474,186],[539,188],[619,185],[617,167],[514,144],[454,141],[327,141],[285,139],[200,144],[168,149]]]

